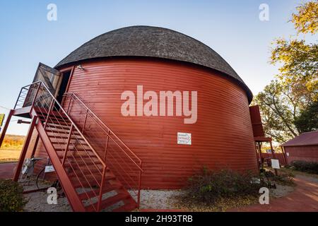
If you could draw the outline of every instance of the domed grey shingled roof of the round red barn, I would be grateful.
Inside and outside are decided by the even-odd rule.
[[[158,57],[206,66],[234,78],[247,92],[249,102],[252,101],[251,90],[218,53],[192,37],[167,28],[131,26],[106,32],[78,47],[55,68],[104,57]]]

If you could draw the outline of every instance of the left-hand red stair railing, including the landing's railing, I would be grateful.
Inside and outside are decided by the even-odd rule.
[[[41,81],[21,88],[15,109],[29,106],[42,119],[42,126],[45,127],[50,141],[55,144],[55,151],[58,153],[59,150],[61,165],[69,175],[73,175],[73,189],[80,189],[81,194],[87,196],[88,203],[83,205],[91,204],[95,211],[100,211],[107,170],[105,161]],[[69,128],[69,131],[65,128]],[[88,190],[95,193],[97,201],[90,198]]]

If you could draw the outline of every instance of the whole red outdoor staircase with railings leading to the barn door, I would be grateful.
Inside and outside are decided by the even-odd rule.
[[[66,93],[60,105],[45,83],[27,85],[12,114],[35,121],[74,211],[139,207],[141,160],[74,93]]]

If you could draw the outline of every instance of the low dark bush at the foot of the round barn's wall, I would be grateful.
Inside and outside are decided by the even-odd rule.
[[[189,179],[186,196],[197,203],[215,203],[220,198],[258,196],[264,183],[249,172],[239,173],[230,169],[202,174]]]

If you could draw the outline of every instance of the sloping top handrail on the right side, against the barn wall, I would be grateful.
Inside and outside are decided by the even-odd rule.
[[[100,122],[100,124],[102,124],[102,126],[105,126],[105,128],[107,129],[107,131],[110,131],[110,133],[112,133],[112,135],[117,138],[117,140],[122,143],[122,145],[124,145],[125,148],[127,148],[127,150],[129,150],[129,153],[131,153],[132,155],[134,155],[134,157],[136,157],[136,159],[139,161],[139,165],[136,164],[136,162],[134,160],[131,159],[131,157],[126,153],[125,150],[123,150],[120,145],[119,148],[122,149],[122,151],[135,163],[135,165],[141,170],[141,172],[143,172],[143,169],[140,167],[140,165],[142,164],[142,160],[136,155],[136,153],[134,153],[127,145],[126,143],[124,143],[124,141],[122,141],[121,138],[119,138],[116,133],[114,133],[114,131],[112,131],[112,129],[110,129],[110,127],[108,127],[103,121],[102,119],[100,119],[100,117],[98,117],[91,109],[90,107],[88,107],[79,97],[78,95],[76,95],[75,93],[64,93],[64,96],[67,96],[67,95],[71,95],[73,97],[75,97],[79,102],[81,102],[81,105],[85,106],[86,107],[86,110],[88,110],[90,112],[90,114],[93,114],[93,116],[98,119],[98,121]],[[107,134],[107,131],[105,131],[103,128],[101,128],[106,134]],[[111,137],[110,137],[111,138]],[[113,138],[111,138],[112,141],[114,141]],[[114,141],[114,143],[117,143],[116,141]]]

